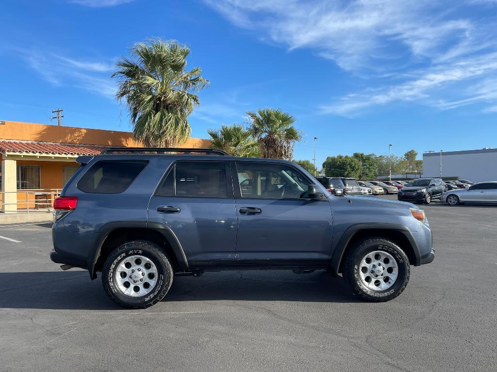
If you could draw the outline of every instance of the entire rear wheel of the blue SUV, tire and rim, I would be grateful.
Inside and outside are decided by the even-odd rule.
[[[147,241],[127,242],[114,249],[103,264],[102,283],[116,304],[144,309],[166,296],[172,267],[164,252]]]

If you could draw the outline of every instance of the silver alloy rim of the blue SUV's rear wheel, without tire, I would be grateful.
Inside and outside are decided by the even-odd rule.
[[[125,258],[117,266],[114,281],[126,296],[140,297],[154,289],[157,276],[157,267],[150,258],[134,255]]]

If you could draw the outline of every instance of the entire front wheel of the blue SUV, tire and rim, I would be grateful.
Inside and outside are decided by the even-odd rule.
[[[406,289],[411,274],[406,253],[383,238],[358,242],[345,257],[343,278],[354,292],[370,302],[389,301]]]

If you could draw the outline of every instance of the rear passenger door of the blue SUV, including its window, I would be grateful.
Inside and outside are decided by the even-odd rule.
[[[149,223],[166,225],[176,235],[190,265],[234,260],[237,229],[229,167],[224,161],[178,161],[150,199]]]

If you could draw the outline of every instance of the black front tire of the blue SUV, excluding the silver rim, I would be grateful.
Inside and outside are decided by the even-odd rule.
[[[359,277],[359,264],[362,258],[375,250],[383,250],[391,254],[397,262],[399,274],[392,285],[384,291],[372,291],[365,287]],[[368,302],[386,302],[395,299],[405,289],[411,275],[409,258],[395,243],[379,237],[368,237],[360,240],[347,252],[342,275],[354,293]]]

